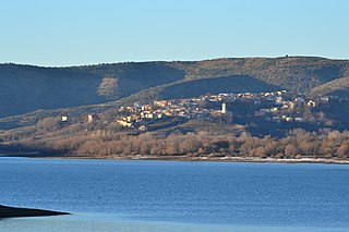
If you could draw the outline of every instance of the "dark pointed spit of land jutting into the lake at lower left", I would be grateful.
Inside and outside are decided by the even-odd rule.
[[[17,218],[17,217],[40,217],[40,216],[59,216],[70,215],[68,212],[59,212],[43,209],[14,208],[0,205],[0,219]]]

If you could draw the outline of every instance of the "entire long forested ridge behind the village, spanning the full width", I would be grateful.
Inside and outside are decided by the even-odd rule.
[[[349,90],[340,84],[347,85],[346,76],[349,76],[349,60],[311,57],[71,68],[0,64],[0,118],[38,109],[104,103],[135,93],[135,100],[275,88],[301,94],[346,95]]]

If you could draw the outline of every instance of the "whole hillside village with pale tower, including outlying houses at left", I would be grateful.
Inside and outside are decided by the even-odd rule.
[[[155,100],[153,103],[122,106],[117,109],[113,123],[140,132],[156,131],[182,124],[189,120],[206,120],[237,124],[328,123],[323,112],[328,97],[309,99],[288,90],[270,93],[227,93],[194,98]],[[69,121],[62,117],[62,121]],[[100,120],[100,114],[88,114],[87,122]],[[108,122],[106,122],[108,123]]]

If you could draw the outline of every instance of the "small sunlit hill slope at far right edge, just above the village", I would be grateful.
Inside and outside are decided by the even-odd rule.
[[[317,86],[312,89],[310,95],[349,97],[349,76]]]

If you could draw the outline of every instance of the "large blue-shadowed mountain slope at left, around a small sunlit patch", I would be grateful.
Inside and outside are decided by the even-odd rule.
[[[120,63],[81,68],[0,65],[0,118],[38,109],[59,109],[103,103],[98,93],[104,77],[118,80],[115,99],[144,88],[173,82],[181,71],[156,63]]]

